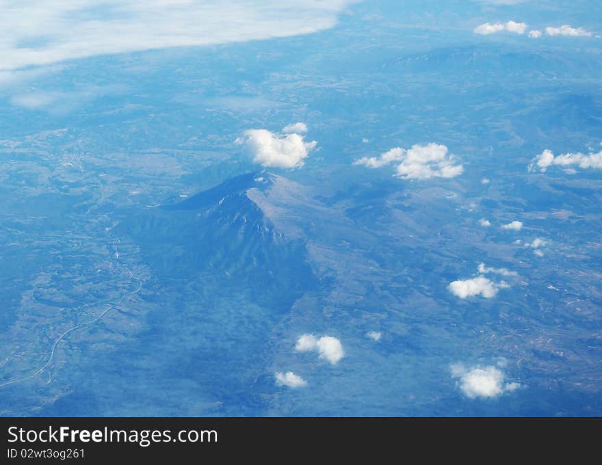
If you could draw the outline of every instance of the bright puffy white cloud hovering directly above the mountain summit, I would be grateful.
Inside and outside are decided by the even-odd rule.
[[[267,129],[249,129],[244,135],[237,139],[237,143],[244,145],[244,152],[254,163],[270,168],[300,168],[317,144],[305,142],[300,134],[278,134]]]

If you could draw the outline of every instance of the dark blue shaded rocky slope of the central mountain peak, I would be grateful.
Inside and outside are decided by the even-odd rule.
[[[133,213],[120,228],[161,280],[211,277],[293,300],[314,282],[304,241],[287,237],[250,198],[284,182],[266,172],[243,174],[181,202]]]

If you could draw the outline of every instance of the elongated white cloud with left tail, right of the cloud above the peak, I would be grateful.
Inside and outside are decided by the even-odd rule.
[[[395,176],[404,179],[454,178],[462,174],[462,165],[454,165],[454,157],[448,155],[447,146],[434,144],[415,144],[412,148],[392,148],[378,157],[363,157],[354,161],[354,165],[368,168],[380,168],[400,161],[395,168]]]

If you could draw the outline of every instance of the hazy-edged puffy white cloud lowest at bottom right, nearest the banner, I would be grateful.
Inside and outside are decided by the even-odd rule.
[[[493,365],[468,369],[463,364],[453,364],[451,376],[458,378],[460,390],[469,399],[497,397],[521,386],[516,382],[505,382],[506,375]]]

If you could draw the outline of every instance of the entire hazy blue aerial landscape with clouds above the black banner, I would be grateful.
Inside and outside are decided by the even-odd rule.
[[[601,416],[602,3],[0,3],[1,416]]]

